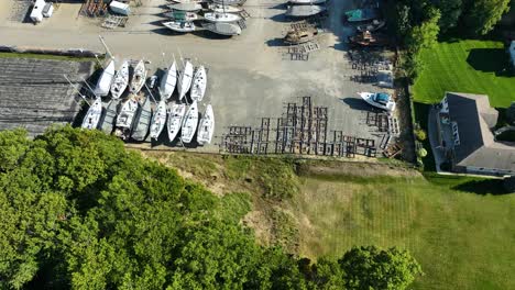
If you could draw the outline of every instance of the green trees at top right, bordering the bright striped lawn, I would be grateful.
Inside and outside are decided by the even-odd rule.
[[[423,69],[420,51],[432,47],[440,33],[483,36],[509,10],[511,0],[397,0],[393,30],[407,55],[403,68],[414,80]]]

